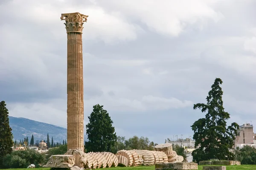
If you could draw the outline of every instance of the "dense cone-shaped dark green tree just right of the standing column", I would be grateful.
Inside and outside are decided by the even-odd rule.
[[[110,152],[117,137],[108,112],[103,109],[103,105],[94,105],[93,112],[88,119],[86,134],[89,141],[85,142],[86,150],[88,152]]]

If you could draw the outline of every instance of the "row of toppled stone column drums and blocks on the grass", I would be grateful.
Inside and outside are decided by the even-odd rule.
[[[65,159],[63,159],[63,156]],[[70,161],[68,161],[68,158]],[[177,163],[181,161],[183,161],[183,157],[178,156],[176,152],[172,150],[171,144],[159,144],[155,147],[154,151],[119,150],[116,155],[110,152],[84,153],[81,152],[81,150],[69,150],[65,155],[51,156],[44,167],[53,167],[52,165],[54,165],[54,167],[62,168],[77,166],[87,169],[96,169],[101,167],[116,167],[118,164],[122,164],[122,166],[125,167],[136,167],[140,165]],[[68,164],[68,162],[70,162],[70,164]]]

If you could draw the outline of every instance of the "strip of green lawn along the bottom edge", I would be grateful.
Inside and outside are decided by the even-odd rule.
[[[226,167],[227,167],[227,170],[256,170],[256,165],[232,165],[232,166],[226,166]],[[8,170],[28,170],[28,169],[25,168],[25,169],[8,169]],[[50,170],[50,168],[33,168],[33,170]],[[154,166],[111,167],[111,168],[104,168],[104,170],[154,170]],[[203,165],[199,165],[198,170],[203,170]]]

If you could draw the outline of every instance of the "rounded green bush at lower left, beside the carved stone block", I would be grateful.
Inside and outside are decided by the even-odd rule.
[[[38,153],[36,150],[17,150],[3,158],[3,165],[5,168],[26,168],[29,164],[39,167],[38,164],[44,161],[44,157],[44,154]]]

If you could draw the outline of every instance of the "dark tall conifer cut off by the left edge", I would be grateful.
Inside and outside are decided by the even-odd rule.
[[[0,102],[0,167],[3,157],[12,152],[12,128],[9,125],[8,109],[4,101]]]

